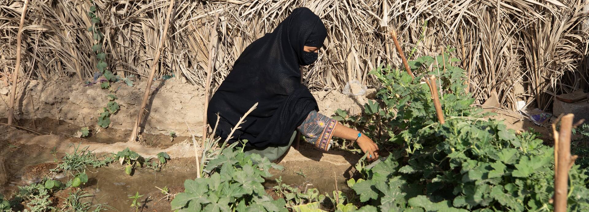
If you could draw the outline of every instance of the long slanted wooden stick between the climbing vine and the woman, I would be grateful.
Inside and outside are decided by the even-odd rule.
[[[161,49],[164,47],[164,41],[166,41],[166,34],[168,33],[168,25],[170,25],[170,15],[172,14],[172,9],[174,9],[174,0],[170,1],[170,6],[168,7],[168,12],[166,14],[166,25],[164,25],[164,33],[161,35],[160,46],[158,46],[157,52],[155,52],[155,57],[153,58],[153,63],[151,63],[151,72],[149,78],[147,78],[147,88],[145,88],[145,94],[143,95],[143,100],[141,101],[141,107],[139,107],[139,112],[137,113],[137,120],[135,120],[133,132],[131,133],[131,137],[129,139],[130,142],[137,140],[139,124],[141,123],[141,117],[143,116],[143,109],[145,108],[145,105],[147,105],[147,99],[151,90],[151,83],[153,82],[155,69],[157,68],[157,62],[160,59]]]

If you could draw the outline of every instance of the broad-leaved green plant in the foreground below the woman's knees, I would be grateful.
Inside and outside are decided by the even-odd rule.
[[[284,199],[272,200],[262,186],[263,177],[272,176],[270,168],[282,169],[258,154],[224,149],[207,164],[209,177],[184,181],[185,191],[171,201],[172,210],[287,211]]]

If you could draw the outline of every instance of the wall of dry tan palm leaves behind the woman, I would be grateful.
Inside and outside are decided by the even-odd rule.
[[[12,68],[22,0],[0,2],[0,51]],[[22,75],[44,80],[66,75],[91,78],[97,60],[86,29],[91,26],[88,9],[96,5],[110,70],[146,76],[168,4],[31,1],[23,33]],[[587,89],[589,34],[581,26],[588,18],[583,0],[176,1],[157,76],[173,73],[203,86],[207,48],[214,41],[214,88],[249,43],[272,31],[298,6],[315,11],[329,31],[325,51],[305,72],[305,82],[315,90],[342,89],[349,80],[370,84],[370,69],[401,65],[390,29],[398,31],[406,53],[416,47],[412,58],[437,55],[444,45],[457,48],[454,54],[464,60],[473,95],[484,100],[496,90],[506,109],[513,109],[517,100],[544,108],[555,93]],[[218,36],[211,38],[211,29]]]

